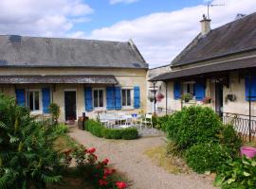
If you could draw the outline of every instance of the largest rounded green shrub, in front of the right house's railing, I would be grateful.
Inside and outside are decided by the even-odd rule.
[[[176,145],[185,150],[194,144],[217,141],[222,122],[212,109],[191,106],[175,112],[168,119],[165,128]]]

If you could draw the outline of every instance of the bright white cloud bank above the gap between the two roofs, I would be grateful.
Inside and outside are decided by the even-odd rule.
[[[212,4],[225,7],[210,8],[212,28],[233,21],[237,13],[256,10],[255,0],[214,0]],[[121,21],[113,26],[95,29],[87,38],[127,41],[132,38],[151,67],[171,60],[200,32],[199,20],[207,13],[206,6],[196,6],[172,12],[159,12]],[[83,33],[80,33],[82,37]],[[83,36],[84,37],[84,36]]]

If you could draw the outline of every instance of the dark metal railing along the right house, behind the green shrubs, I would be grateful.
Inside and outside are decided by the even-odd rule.
[[[166,110],[158,108],[156,114],[162,116],[165,114],[173,114],[174,110]],[[243,141],[256,141],[256,116],[250,116],[247,114],[237,114],[231,112],[216,112],[222,122],[226,125],[232,125],[237,131],[238,135]]]

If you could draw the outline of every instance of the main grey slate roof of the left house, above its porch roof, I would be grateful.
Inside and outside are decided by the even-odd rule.
[[[0,35],[0,67],[148,68],[134,43]]]

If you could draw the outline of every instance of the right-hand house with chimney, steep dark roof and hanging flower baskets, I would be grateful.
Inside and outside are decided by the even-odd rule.
[[[171,62],[171,68],[150,79],[167,88],[167,109],[204,104],[221,115],[252,119],[256,116],[256,13],[215,29],[204,16],[200,34]],[[184,94],[192,99],[181,99]]]

